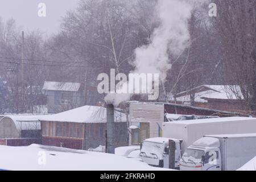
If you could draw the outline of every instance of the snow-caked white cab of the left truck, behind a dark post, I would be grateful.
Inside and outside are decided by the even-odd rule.
[[[149,138],[142,142],[140,158],[154,167],[169,168],[169,140],[175,142],[175,168],[179,168],[180,140],[172,138]]]

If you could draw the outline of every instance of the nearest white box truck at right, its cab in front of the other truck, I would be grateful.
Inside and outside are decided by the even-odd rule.
[[[184,152],[183,171],[234,171],[256,154],[256,134],[205,135]]]

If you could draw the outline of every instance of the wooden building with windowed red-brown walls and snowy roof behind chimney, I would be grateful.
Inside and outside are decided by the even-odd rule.
[[[126,115],[114,111],[115,146],[127,145]],[[40,119],[47,146],[88,150],[106,146],[106,108],[82,106]]]

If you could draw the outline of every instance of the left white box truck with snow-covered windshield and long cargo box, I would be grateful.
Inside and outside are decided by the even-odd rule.
[[[178,159],[197,139],[211,134],[256,133],[256,118],[227,117],[165,122],[162,131],[163,139],[149,138],[142,142],[140,158],[152,166],[170,168],[168,150],[172,148],[168,147],[168,140],[171,139],[176,143],[175,156],[171,156],[171,159],[175,159],[175,168],[178,168]],[[164,147],[159,147],[158,143]]]

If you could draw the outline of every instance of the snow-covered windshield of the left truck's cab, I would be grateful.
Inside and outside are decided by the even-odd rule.
[[[141,152],[144,152],[147,156],[156,155],[159,158],[163,153],[163,147],[163,143],[143,142]]]

